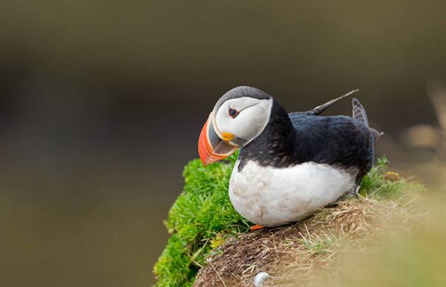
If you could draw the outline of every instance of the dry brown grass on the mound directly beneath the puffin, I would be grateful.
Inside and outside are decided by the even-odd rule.
[[[207,258],[193,286],[253,286],[261,271],[272,276],[265,286],[309,286],[321,273],[336,272],[340,251],[369,245],[391,222],[401,228],[414,222],[412,201],[405,202],[347,199],[294,225],[229,238]]]

